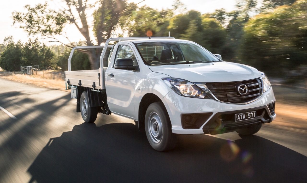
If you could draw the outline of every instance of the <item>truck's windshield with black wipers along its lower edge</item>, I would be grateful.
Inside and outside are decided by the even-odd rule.
[[[135,43],[135,46],[148,65],[220,62],[212,53],[193,42],[153,41]]]

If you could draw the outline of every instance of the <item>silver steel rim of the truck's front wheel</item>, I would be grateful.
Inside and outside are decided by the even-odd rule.
[[[149,136],[154,143],[159,143],[163,135],[163,126],[159,115],[155,112],[150,113],[148,121]]]

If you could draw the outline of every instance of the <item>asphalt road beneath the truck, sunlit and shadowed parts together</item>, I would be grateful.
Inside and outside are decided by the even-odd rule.
[[[274,121],[249,137],[182,135],[157,152],[132,120],[83,123],[68,92],[0,78],[0,106],[0,182],[307,180],[306,131]]]

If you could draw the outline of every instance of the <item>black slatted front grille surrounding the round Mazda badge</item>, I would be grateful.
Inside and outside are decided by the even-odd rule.
[[[247,86],[246,94],[239,94],[237,87],[240,84]],[[258,98],[262,93],[262,80],[260,78],[236,82],[206,83],[212,94],[220,101],[230,103],[247,103]]]

